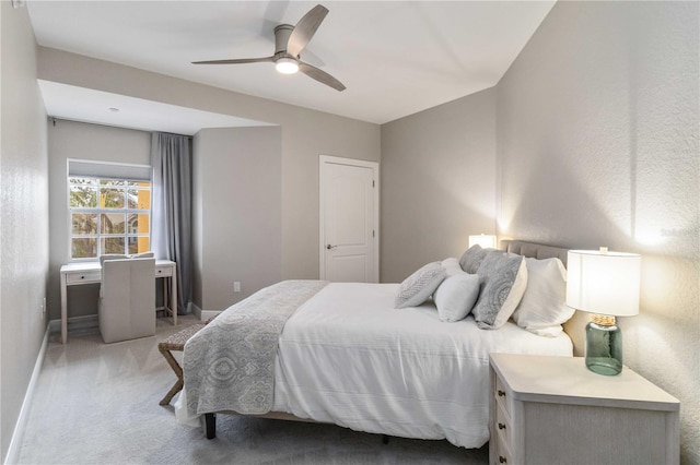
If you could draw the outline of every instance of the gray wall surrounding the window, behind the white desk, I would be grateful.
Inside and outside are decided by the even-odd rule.
[[[48,124],[50,277],[49,319],[61,318],[60,267],[70,261],[68,158],[151,164],[151,133],[83,122],[56,120]],[[69,317],[97,313],[100,285],[70,286]]]

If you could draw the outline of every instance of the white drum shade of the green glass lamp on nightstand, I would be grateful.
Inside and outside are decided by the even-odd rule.
[[[570,250],[567,262],[569,307],[612,317],[639,313],[640,255]]]

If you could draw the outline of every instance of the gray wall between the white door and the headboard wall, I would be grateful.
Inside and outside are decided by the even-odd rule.
[[[495,234],[493,88],[382,126],[381,281]]]

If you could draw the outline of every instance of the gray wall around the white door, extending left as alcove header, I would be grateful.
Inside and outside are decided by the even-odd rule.
[[[378,124],[42,47],[38,75],[47,81],[279,124],[283,278],[318,277],[318,155],[380,160]]]

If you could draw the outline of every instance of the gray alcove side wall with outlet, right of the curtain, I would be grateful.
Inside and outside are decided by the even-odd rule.
[[[224,310],[282,277],[281,130],[205,129],[194,146],[192,302]]]

